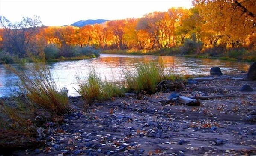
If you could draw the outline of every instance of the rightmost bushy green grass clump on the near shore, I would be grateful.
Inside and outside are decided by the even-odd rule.
[[[165,69],[163,64],[137,63],[134,71],[123,71],[125,84],[129,91],[145,91],[146,94],[154,94],[158,82],[163,80],[174,81],[182,79],[182,76],[173,74],[171,68]]]

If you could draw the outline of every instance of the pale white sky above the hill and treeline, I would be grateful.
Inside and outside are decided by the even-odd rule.
[[[171,7],[192,7],[192,0],[0,0],[0,16],[12,22],[39,16],[46,26],[71,25],[88,19],[141,18]]]

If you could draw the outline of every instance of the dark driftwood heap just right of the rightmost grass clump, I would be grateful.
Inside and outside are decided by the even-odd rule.
[[[156,87],[159,91],[167,90],[167,89],[175,90],[177,88],[178,89],[186,88],[182,81],[181,82],[171,82],[169,80],[164,80],[164,81],[159,82]]]

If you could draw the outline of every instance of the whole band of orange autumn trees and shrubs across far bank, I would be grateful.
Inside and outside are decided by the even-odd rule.
[[[27,51],[44,51],[47,59],[80,56],[88,49],[89,54],[126,50],[256,59],[255,0],[193,0],[193,4],[191,9],[170,8],[82,28],[42,26],[38,17],[11,24],[2,17],[0,50],[19,57]]]

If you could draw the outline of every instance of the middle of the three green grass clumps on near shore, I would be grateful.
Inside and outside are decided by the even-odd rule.
[[[88,103],[93,100],[109,100],[114,96],[122,96],[124,91],[114,82],[108,82],[102,79],[95,68],[91,68],[87,77],[77,76],[78,89],[77,92]]]

